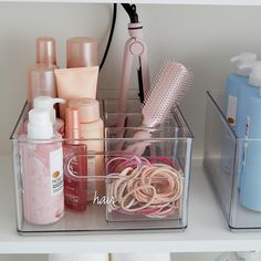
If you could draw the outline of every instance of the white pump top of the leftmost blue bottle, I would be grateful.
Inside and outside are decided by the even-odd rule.
[[[230,59],[230,62],[237,63],[237,74],[248,76],[252,70],[253,63],[257,61],[257,54],[243,52]]]

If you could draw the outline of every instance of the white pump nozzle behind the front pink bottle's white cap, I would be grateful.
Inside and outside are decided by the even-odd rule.
[[[38,96],[33,100],[33,107],[34,108],[45,108],[49,111],[50,119],[52,124],[56,122],[56,112],[53,108],[55,103],[65,103],[63,98],[53,98],[50,96]]]

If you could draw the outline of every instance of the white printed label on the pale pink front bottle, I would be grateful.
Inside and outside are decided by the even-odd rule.
[[[52,196],[63,192],[63,150],[59,148],[50,153],[50,175]]]

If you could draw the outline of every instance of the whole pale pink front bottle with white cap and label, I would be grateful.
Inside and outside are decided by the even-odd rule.
[[[60,138],[59,134],[53,134],[46,109],[29,112],[28,135],[20,142],[23,215],[28,222],[48,225],[63,217],[63,149]]]

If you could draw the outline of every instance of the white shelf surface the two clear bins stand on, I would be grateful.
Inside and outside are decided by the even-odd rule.
[[[0,157],[0,253],[210,252],[261,250],[261,232],[230,232],[201,160],[191,170],[189,227],[185,232],[21,237],[15,231],[10,157]]]

